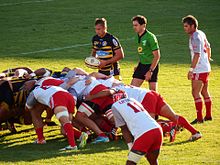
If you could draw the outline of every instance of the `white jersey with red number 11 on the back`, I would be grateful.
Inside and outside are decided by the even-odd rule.
[[[116,127],[127,125],[135,140],[147,131],[160,128],[160,125],[148,114],[143,106],[132,98],[115,102],[112,105],[112,112]]]

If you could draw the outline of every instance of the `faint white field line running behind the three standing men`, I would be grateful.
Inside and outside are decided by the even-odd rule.
[[[166,33],[166,34],[158,34],[156,35],[157,37],[163,37],[167,35],[178,35],[177,33]],[[120,39],[120,41],[129,41],[133,40],[134,38],[127,38],[127,39]],[[45,52],[55,52],[55,51],[60,51],[64,49],[72,49],[72,48],[78,48],[78,47],[86,47],[90,46],[91,43],[85,43],[85,44],[75,44],[75,45],[69,45],[69,46],[64,46],[64,47],[57,47],[57,48],[48,48],[48,49],[40,49],[36,51],[31,51],[31,52],[23,52],[23,53],[18,53],[15,55],[28,55],[28,54],[36,54],[36,53],[45,53]]]

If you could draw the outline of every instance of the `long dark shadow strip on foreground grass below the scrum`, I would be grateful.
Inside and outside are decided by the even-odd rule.
[[[63,137],[48,140],[47,144],[44,145],[27,143],[9,146],[8,143],[0,144],[0,161],[12,163],[20,161],[30,162],[55,157],[127,150],[127,147],[122,140],[103,144],[88,144],[86,148],[79,149],[78,151],[59,151],[59,149],[65,147],[66,145],[67,141]]]

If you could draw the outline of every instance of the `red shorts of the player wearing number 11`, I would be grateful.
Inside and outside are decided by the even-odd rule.
[[[149,153],[160,150],[162,142],[162,131],[160,128],[155,128],[145,132],[138,139],[136,139],[131,150]]]

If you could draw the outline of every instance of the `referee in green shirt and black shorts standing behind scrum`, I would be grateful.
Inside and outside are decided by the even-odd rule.
[[[160,50],[156,36],[147,30],[147,19],[137,15],[132,18],[136,37],[139,63],[134,68],[131,85],[140,87],[144,80],[149,82],[150,90],[157,90]]]

